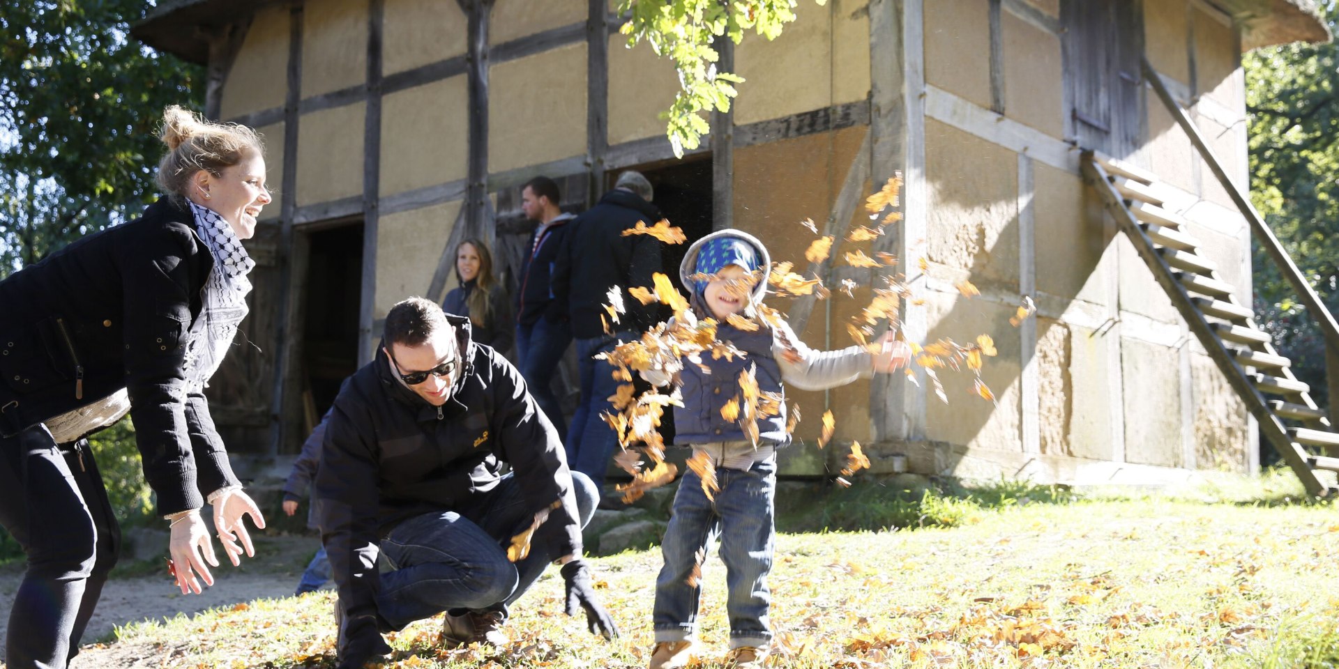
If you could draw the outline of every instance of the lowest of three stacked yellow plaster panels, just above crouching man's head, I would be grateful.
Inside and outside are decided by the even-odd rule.
[[[406,297],[427,293],[459,211],[461,201],[454,201],[378,219],[374,318],[384,318]]]

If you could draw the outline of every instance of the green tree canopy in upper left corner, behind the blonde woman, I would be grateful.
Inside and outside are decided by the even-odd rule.
[[[149,8],[0,4],[0,277],[155,198],[157,123],[204,72],[129,36]]]

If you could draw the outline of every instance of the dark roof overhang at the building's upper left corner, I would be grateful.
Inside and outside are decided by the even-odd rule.
[[[209,63],[208,35],[242,23],[257,8],[280,0],[162,0],[145,20],[130,28],[139,41],[191,63]]]

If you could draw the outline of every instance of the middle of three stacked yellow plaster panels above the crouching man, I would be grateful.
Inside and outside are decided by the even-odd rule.
[[[382,100],[382,195],[467,175],[467,86],[465,75],[453,76]]]

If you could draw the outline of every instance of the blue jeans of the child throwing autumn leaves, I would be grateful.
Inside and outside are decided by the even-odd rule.
[[[691,470],[683,475],[674,498],[674,516],[660,551],[664,566],[656,578],[656,641],[687,641],[695,637],[702,583],[690,586],[696,554],[720,538],[730,595],[730,648],[765,648],[771,642],[767,609],[767,574],[771,571],[777,527],[773,520],[777,496],[777,462],[754,463],[749,471],[716,470],[720,490],[707,499],[702,479]],[[706,569],[704,569],[706,570]]]

